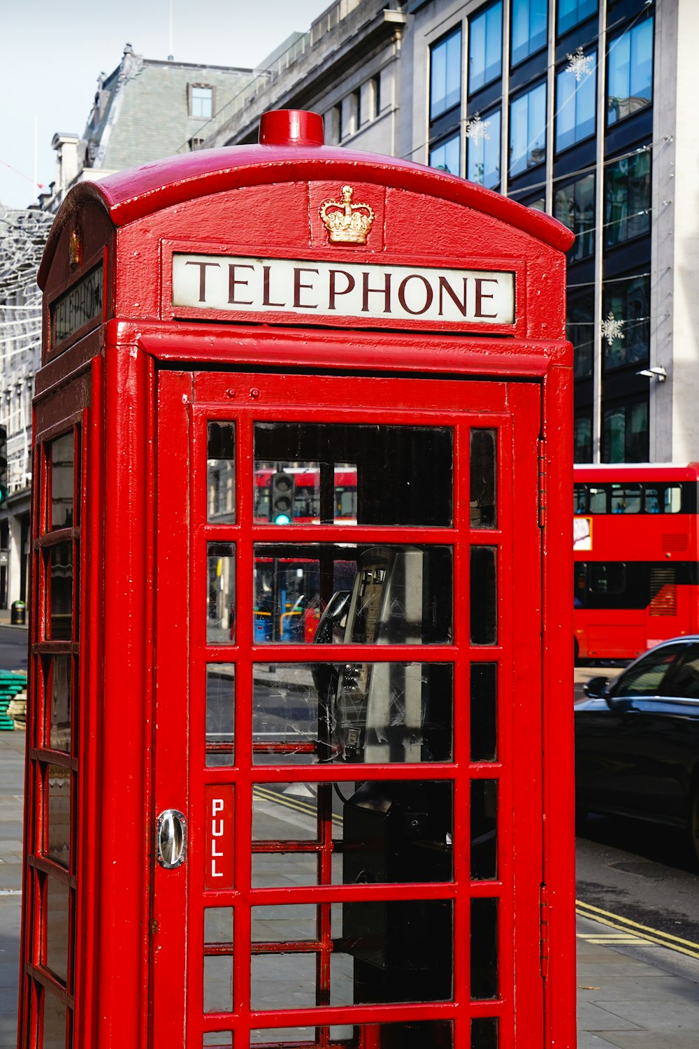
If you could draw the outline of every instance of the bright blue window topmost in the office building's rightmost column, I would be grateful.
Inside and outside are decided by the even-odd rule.
[[[653,101],[653,19],[612,40],[608,53],[607,124],[637,113]]]

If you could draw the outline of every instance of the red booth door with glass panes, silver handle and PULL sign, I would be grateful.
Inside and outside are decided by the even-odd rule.
[[[542,1045],[539,385],[156,415],[152,1044]]]

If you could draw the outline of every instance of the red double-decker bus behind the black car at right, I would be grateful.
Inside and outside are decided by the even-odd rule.
[[[574,467],[576,660],[699,629],[699,464]]]

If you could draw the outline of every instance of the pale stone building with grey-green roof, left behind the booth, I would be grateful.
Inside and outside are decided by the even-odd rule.
[[[53,214],[78,181],[197,148],[202,123],[253,77],[252,69],[145,59],[127,44],[118,66],[97,80],[83,134],[53,135],[56,178],[39,206],[0,209],[0,423],[9,486],[0,507],[0,607],[27,597],[31,398],[41,347],[36,273]]]

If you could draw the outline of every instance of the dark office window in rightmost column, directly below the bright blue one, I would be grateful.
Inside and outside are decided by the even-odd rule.
[[[651,153],[634,153],[605,171],[605,248],[613,248],[651,229]]]

